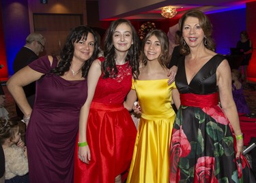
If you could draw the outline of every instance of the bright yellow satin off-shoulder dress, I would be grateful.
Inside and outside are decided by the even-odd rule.
[[[175,112],[171,90],[163,80],[133,80],[141,105],[141,120],[127,183],[168,183],[169,145]]]

